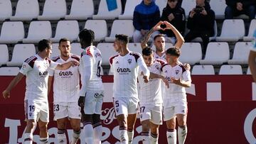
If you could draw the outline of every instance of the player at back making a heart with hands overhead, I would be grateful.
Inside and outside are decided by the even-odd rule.
[[[161,28],[161,26],[165,26],[166,28]],[[157,23],[156,26],[151,28],[151,30],[148,33],[146,33],[146,35],[142,39],[142,42],[141,42],[142,49],[144,49],[148,46],[146,43],[148,43],[149,38],[151,37],[152,33],[154,33],[154,31],[159,31],[159,30],[164,31],[166,29],[173,31],[176,36],[177,42],[175,43],[174,47],[181,48],[181,46],[184,43],[184,38],[181,35],[181,33],[179,33],[178,30],[174,26],[172,26],[171,23],[169,23],[168,21],[159,21],[159,23]],[[165,48],[164,35],[159,34],[159,35],[154,36],[154,45],[156,46],[156,51],[154,52],[154,57],[156,59],[166,61],[166,50],[164,50],[164,48]]]

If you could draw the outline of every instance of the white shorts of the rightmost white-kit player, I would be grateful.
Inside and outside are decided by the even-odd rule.
[[[188,106],[186,101],[176,101],[172,102],[169,106],[164,106],[163,117],[164,121],[169,121],[174,118],[176,114],[187,115]]]

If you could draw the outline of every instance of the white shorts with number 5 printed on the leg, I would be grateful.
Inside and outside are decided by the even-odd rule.
[[[124,114],[124,116],[128,116],[128,114],[137,113],[139,109],[139,101],[136,98],[115,97],[113,98],[113,102],[116,116],[118,116],[119,114]]]

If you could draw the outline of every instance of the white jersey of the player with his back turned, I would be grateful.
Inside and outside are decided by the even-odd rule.
[[[103,91],[102,78],[100,76],[100,68],[102,64],[102,55],[95,46],[89,46],[81,54],[80,58],[80,74],[82,88],[80,96],[85,96],[86,91]],[[87,76],[90,73],[87,79]]]

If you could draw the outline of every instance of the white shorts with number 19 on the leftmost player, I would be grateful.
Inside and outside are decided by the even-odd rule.
[[[33,101],[26,99],[24,101],[26,120],[39,119],[43,122],[49,122],[49,106],[48,101]]]

